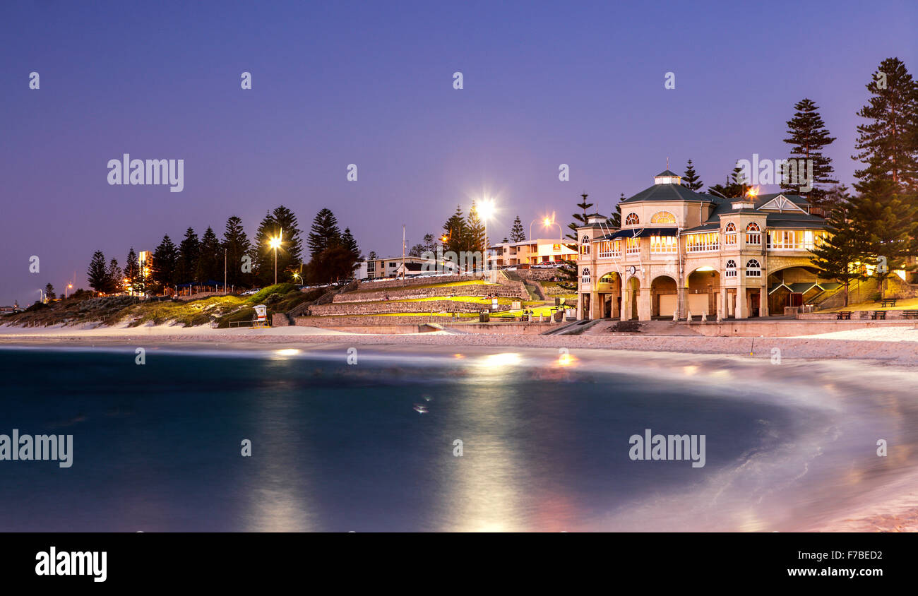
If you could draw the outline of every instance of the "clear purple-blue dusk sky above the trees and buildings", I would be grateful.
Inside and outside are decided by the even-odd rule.
[[[222,236],[230,215],[251,239],[280,204],[304,232],[331,208],[381,256],[403,223],[411,246],[486,195],[492,241],[518,214],[527,233],[553,211],[566,227],[581,192],[609,214],[667,157],[705,188],[737,159],[787,157],[803,97],[850,185],[871,74],[893,56],[918,74],[913,0],[632,5],[5,2],[0,304],[74,272],[87,288],[95,250],[123,265],[163,233]],[[109,186],[126,152],[185,160],[184,191]]]

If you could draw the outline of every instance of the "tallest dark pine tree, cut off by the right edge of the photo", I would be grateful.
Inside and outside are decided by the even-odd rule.
[[[918,88],[897,58],[881,62],[879,73],[885,81],[871,78],[872,96],[857,112],[869,122],[857,127],[855,159],[867,167],[855,172],[854,187],[856,218],[865,224],[869,252],[878,262],[876,276],[885,286],[890,272],[904,267],[918,235]]]

